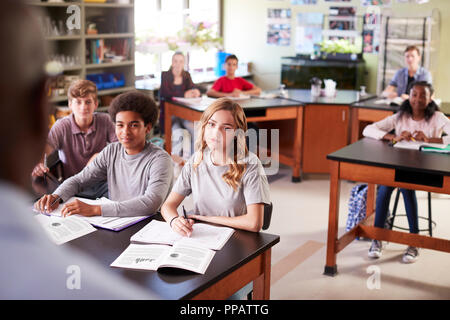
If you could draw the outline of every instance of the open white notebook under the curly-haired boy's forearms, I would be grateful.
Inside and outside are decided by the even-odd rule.
[[[106,203],[111,203],[113,201],[109,200],[108,198],[101,198],[96,200],[86,199],[86,198],[78,198],[78,197],[72,197],[69,200],[67,200],[65,203],[69,203],[74,201],[75,199],[78,199],[80,201],[83,201],[87,204],[91,205],[102,205]],[[63,205],[59,205],[58,208],[52,212],[50,212],[51,216],[57,216],[61,217],[61,211],[62,211]],[[33,209],[36,211],[35,209]],[[37,211],[36,211],[37,212]],[[46,214],[46,213],[44,213]],[[107,230],[113,230],[113,231],[120,231],[122,229],[125,229],[135,223],[138,223],[139,221],[142,221],[144,219],[147,219],[149,216],[137,216],[137,217],[102,217],[102,216],[93,216],[93,217],[84,217],[78,214],[74,214],[74,217],[79,217],[84,219],[85,221],[89,222],[93,226],[96,226],[98,228],[107,229]]]

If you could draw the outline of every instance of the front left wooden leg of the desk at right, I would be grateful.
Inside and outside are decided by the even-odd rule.
[[[330,164],[330,208],[328,214],[328,240],[327,261],[324,274],[334,276],[337,274],[336,252],[339,225],[339,161],[331,161]]]

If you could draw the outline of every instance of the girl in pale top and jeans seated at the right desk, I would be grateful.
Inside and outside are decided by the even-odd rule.
[[[393,143],[402,140],[416,140],[430,143],[450,143],[450,120],[439,111],[436,103],[431,99],[433,88],[427,82],[415,82],[410,91],[409,100],[403,102],[398,113],[381,121],[367,126],[363,135],[378,140],[389,140]],[[394,130],[394,133],[391,131]],[[446,134],[446,136],[444,136]],[[383,228],[387,219],[389,202],[393,187],[379,186],[375,227]],[[400,188],[405,202],[411,233],[419,233],[417,199],[414,190]],[[382,242],[373,240],[369,250],[370,258],[381,256]],[[412,263],[417,259],[419,252],[415,247],[409,246],[402,261]]]

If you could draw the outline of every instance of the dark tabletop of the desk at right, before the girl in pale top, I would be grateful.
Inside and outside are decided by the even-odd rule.
[[[333,152],[327,159],[450,176],[450,157],[446,154],[394,148],[387,141],[371,138]]]

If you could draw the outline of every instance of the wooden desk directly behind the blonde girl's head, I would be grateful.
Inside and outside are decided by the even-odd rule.
[[[237,100],[244,109],[248,122],[258,122],[261,128],[279,129],[279,161],[292,167],[292,181],[299,182],[301,177],[301,132],[303,126],[303,105],[287,99],[252,98]],[[178,101],[166,101],[165,128],[172,128],[172,116],[190,121],[199,121],[203,108],[189,106]],[[165,148],[172,150],[172,132],[166,130]]]

